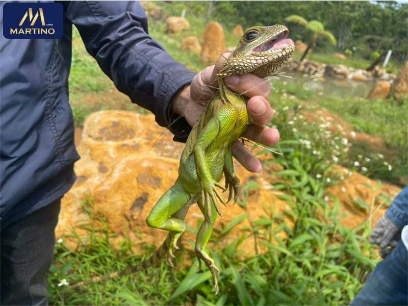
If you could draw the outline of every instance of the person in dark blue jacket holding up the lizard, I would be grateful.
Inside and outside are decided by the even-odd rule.
[[[203,103],[211,99],[215,74],[223,62],[198,74],[175,62],[148,35],[138,2],[63,2],[60,39],[5,39],[1,50],[1,303],[46,304],[46,273],[52,261],[60,199],[75,181],[74,146],[68,103],[72,24],[88,53],[133,103],[150,110],[169,127],[174,140],[186,141]],[[0,19],[3,24],[3,6]],[[254,75],[225,82],[250,97],[251,125],[246,137],[273,145],[279,138],[267,124],[273,111],[268,82]],[[216,86],[216,85],[215,85]],[[174,114],[174,115],[173,115]],[[183,119],[174,121],[178,115]],[[234,155],[249,171],[260,161],[240,143]]]

